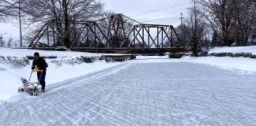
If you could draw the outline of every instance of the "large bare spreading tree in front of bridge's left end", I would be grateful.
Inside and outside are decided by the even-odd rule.
[[[24,20],[28,26],[37,26],[33,29],[35,33],[50,27],[57,43],[63,43],[68,48],[74,35],[73,31],[79,29],[72,22],[94,20],[103,10],[103,4],[96,0],[23,0],[21,6],[26,14]]]

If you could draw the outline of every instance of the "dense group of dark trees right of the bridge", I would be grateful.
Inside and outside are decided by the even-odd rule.
[[[190,43],[195,19],[201,46],[232,46],[233,43],[247,46],[256,43],[255,0],[196,0],[196,9],[191,6],[189,13],[185,23],[178,27],[186,43]],[[194,13],[197,13],[196,18]]]

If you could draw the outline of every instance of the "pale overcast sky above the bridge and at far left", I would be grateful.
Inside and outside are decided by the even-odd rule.
[[[180,24],[180,13],[187,16],[190,0],[100,0],[104,2],[105,9],[115,13],[122,13],[127,17],[145,24]],[[16,26],[13,26],[16,25]],[[0,35],[7,41],[10,37],[19,44],[18,22],[13,24],[0,23]]]

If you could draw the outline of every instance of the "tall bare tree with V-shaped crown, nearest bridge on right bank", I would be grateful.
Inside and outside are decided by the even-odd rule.
[[[222,36],[223,44],[228,46],[231,26],[233,23],[235,1],[234,0],[201,0],[197,1],[201,17],[204,17],[212,25],[214,31]]]

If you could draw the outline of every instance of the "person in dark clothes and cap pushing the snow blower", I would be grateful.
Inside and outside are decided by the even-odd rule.
[[[47,62],[43,59],[43,57],[40,57],[39,53],[34,54],[34,60],[32,62],[32,70],[33,69],[39,69],[43,70],[43,72],[37,72],[37,80],[40,82],[40,85],[42,86],[41,91],[45,91],[45,76],[47,71]]]

